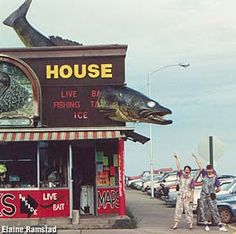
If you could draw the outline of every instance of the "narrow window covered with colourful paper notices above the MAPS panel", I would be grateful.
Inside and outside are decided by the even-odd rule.
[[[96,151],[98,187],[118,186],[118,148],[116,142],[98,145]]]

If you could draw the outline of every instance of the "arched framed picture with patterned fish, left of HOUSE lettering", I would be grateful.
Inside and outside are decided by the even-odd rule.
[[[0,126],[38,127],[40,83],[22,60],[0,55]]]

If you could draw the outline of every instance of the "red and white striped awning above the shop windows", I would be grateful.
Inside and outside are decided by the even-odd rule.
[[[7,131],[0,132],[0,142],[67,141],[112,139],[122,137],[118,130],[103,131]]]

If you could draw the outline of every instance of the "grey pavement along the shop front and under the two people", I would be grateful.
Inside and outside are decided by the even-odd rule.
[[[108,230],[59,230],[59,234],[185,234],[206,233],[203,227],[194,225],[193,230],[188,229],[183,215],[183,221],[177,230],[171,230],[173,225],[174,209],[167,207],[163,201],[151,199],[145,193],[127,189],[126,199],[128,208],[139,220],[137,229],[108,229]],[[210,234],[222,233],[217,227],[211,227]],[[234,233],[230,230],[227,233]]]

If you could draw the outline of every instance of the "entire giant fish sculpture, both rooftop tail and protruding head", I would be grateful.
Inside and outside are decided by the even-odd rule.
[[[32,0],[26,0],[14,11],[4,24],[12,27],[26,47],[41,46],[75,46],[78,42],[61,37],[45,37],[32,27],[26,14]],[[104,117],[121,122],[144,122],[160,125],[171,124],[164,116],[171,111],[142,93],[128,87],[105,87],[98,97],[98,110]]]

